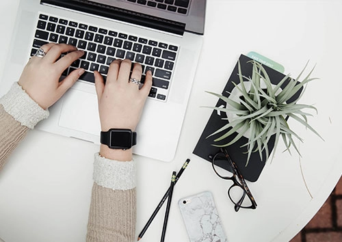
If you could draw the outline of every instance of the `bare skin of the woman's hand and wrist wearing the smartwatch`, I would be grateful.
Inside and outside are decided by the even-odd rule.
[[[152,74],[146,73],[142,88],[137,83],[129,81],[130,78],[140,80],[142,66],[134,64],[130,77],[131,61],[124,59],[114,60],[109,66],[107,81],[98,72],[94,72],[95,86],[98,97],[98,112],[100,114],[101,130],[131,129],[135,131],[140,120],[148,93],[152,86]],[[101,144],[100,154],[108,159],[130,161],[132,150],[114,150]]]

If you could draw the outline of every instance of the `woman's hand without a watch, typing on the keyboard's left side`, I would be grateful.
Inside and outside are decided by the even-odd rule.
[[[84,72],[82,68],[74,70],[63,81],[59,81],[62,72],[84,52],[77,51],[68,44],[44,44],[41,49],[44,57],[32,56],[18,81],[19,85],[43,109],[51,107],[63,94],[73,86]],[[68,54],[60,58],[62,53]],[[60,59],[58,59],[60,58]],[[58,59],[58,60],[57,60]]]

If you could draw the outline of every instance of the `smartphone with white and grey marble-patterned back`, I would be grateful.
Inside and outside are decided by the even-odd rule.
[[[178,202],[190,242],[226,242],[226,235],[210,191],[181,198]]]

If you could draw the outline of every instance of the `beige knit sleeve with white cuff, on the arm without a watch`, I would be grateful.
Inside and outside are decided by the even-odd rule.
[[[27,131],[47,116],[49,111],[39,107],[17,83],[0,98],[0,170]]]

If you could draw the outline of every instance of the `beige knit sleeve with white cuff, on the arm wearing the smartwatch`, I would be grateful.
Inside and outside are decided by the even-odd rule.
[[[134,241],[135,221],[135,161],[96,154],[87,241]]]

